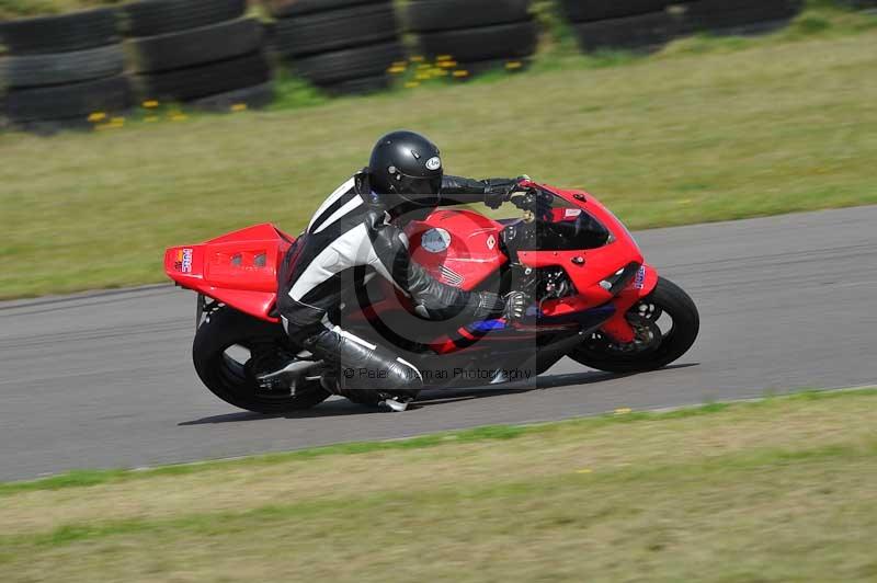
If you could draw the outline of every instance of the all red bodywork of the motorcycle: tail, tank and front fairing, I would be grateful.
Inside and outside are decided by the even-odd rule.
[[[615,307],[615,315],[603,323],[602,330],[618,342],[633,341],[634,332],[625,315],[658,283],[657,272],[643,263],[642,253],[634,238],[608,209],[583,191],[559,190],[532,182],[524,182],[522,186],[538,186],[549,191],[573,207],[554,209],[554,220],[574,220],[581,209],[612,233],[611,242],[599,249],[519,253],[519,260],[525,266],[562,267],[578,293],[576,296],[544,301],[542,316],[550,318],[584,312],[611,302]],[[425,221],[410,225],[407,235],[414,261],[426,267],[436,279],[472,290],[509,262],[499,244],[504,227],[471,210],[440,209]],[[431,252],[430,249],[435,248],[429,241],[423,241],[424,233],[434,229],[446,231],[449,236],[446,248],[438,245],[441,250],[437,252]],[[164,271],[182,287],[255,318],[276,322],[272,312],[276,302],[277,268],[293,242],[293,237],[273,225],[258,225],[202,244],[170,248],[164,254]],[[617,295],[613,296],[601,286],[601,282],[630,264],[641,267]],[[380,312],[381,307],[375,305],[372,309]],[[367,315],[363,318],[367,318]],[[538,330],[522,330],[521,333],[528,333],[532,338]],[[510,339],[505,335],[498,340]],[[440,354],[459,350],[456,343],[444,338],[436,339],[431,345]]]

